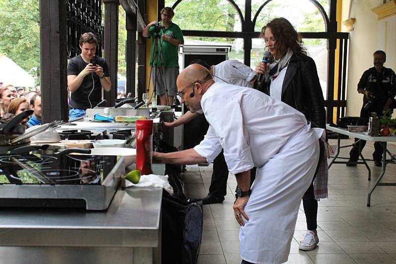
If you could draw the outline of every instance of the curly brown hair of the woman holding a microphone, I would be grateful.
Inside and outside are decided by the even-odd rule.
[[[272,19],[267,25],[262,27],[260,38],[264,39],[266,28],[270,28],[275,38],[275,48],[277,49],[276,59],[282,58],[288,49],[294,51],[295,54],[306,55],[306,48],[302,42],[301,35],[298,34],[293,25],[284,17]]]

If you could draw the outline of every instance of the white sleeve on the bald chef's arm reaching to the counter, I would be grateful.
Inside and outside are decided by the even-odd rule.
[[[204,157],[208,163],[212,163],[222,149],[223,147],[212,126],[209,126],[205,137],[199,145],[194,147],[194,150],[197,151],[200,156]]]

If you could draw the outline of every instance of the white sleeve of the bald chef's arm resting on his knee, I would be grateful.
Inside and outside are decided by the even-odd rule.
[[[253,168],[249,136],[239,102],[210,96],[202,100],[201,104],[206,120],[224,149],[228,171],[237,174]]]

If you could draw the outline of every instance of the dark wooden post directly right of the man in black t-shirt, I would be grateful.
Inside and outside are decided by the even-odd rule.
[[[118,72],[118,0],[103,0],[104,3],[104,58],[110,71],[111,90],[103,98],[106,106],[112,106],[117,98]]]

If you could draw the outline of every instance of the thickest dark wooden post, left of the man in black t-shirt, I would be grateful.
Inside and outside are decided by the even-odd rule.
[[[40,0],[43,123],[68,120],[66,1]]]

